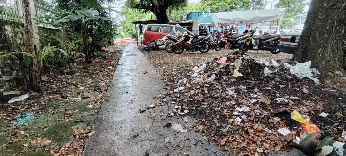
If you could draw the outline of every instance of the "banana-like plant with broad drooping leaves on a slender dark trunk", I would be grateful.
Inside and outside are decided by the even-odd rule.
[[[88,42],[88,36],[87,36],[87,29],[90,26],[90,22],[92,20],[103,20],[103,21],[111,21],[110,19],[106,17],[102,17],[99,14],[99,11],[97,11],[98,8],[82,8],[82,10],[74,10],[74,13],[70,13],[70,15],[67,15],[61,19],[55,20],[54,25],[58,23],[64,23],[67,21],[79,21],[82,25],[82,35],[83,35],[83,43],[84,43],[84,54],[87,61],[91,62],[91,57],[89,54],[89,42]]]

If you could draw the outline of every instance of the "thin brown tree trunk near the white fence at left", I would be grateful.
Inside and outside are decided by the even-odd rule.
[[[41,82],[38,73],[38,64],[36,51],[34,49],[33,23],[31,23],[30,4],[28,0],[23,0],[23,14],[25,19],[25,50],[34,55],[28,68],[29,71],[29,89],[35,92],[41,92]],[[24,77],[25,75],[23,75]]]

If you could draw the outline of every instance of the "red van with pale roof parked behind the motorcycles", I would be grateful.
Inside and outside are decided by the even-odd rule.
[[[165,37],[167,34],[175,34],[177,31],[181,33],[186,32],[183,27],[177,25],[147,24],[144,28],[142,42],[144,45],[148,45],[157,39]]]

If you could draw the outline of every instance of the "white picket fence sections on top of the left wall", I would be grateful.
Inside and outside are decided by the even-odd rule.
[[[30,3],[33,3],[30,0]],[[37,21],[38,26],[54,28],[52,19],[55,18],[53,8],[34,2],[35,9],[31,9],[31,18]],[[35,16],[35,17],[33,17]],[[0,19],[24,22],[21,0],[0,0]]]

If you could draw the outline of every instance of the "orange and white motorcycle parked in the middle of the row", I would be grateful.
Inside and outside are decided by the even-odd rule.
[[[224,47],[225,49],[236,49],[238,47],[238,41],[240,40],[240,37],[244,35],[245,34],[233,36],[231,32],[225,31],[224,35],[220,36],[220,40],[217,42],[215,51],[220,51],[222,47]]]

